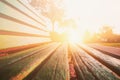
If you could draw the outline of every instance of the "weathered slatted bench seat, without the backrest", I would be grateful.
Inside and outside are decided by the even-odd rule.
[[[78,80],[120,79],[119,72],[114,70],[119,70],[119,59],[86,47],[86,45],[82,48],[87,50],[71,44],[70,52],[68,52],[67,43],[61,45],[60,43],[49,43],[4,56],[0,59],[0,79],[70,80],[68,65],[68,54],[70,55],[70,53]]]

